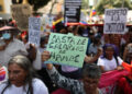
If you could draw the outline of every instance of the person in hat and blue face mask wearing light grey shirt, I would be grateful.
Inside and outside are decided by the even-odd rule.
[[[8,66],[9,60],[15,55],[28,55],[25,46],[16,39],[18,31],[12,26],[3,26],[0,28],[0,63]]]

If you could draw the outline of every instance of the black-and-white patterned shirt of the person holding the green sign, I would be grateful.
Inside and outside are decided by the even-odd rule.
[[[58,73],[53,67],[52,70],[47,70],[51,79],[61,87],[70,91],[70,94],[86,94],[84,90],[84,83],[79,80],[68,79]],[[102,94],[99,90],[99,94]]]

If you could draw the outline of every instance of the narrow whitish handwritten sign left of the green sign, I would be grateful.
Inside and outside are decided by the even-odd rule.
[[[29,43],[40,46],[41,37],[41,19],[29,17]]]

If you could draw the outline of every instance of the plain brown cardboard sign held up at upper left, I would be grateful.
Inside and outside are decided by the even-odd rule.
[[[11,5],[12,17],[15,20],[18,27],[21,31],[28,31],[29,17],[31,16],[31,8],[29,4]]]

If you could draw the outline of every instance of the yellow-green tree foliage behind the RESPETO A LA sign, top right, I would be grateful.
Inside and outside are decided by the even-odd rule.
[[[122,7],[131,10],[132,9],[131,0],[100,0],[100,2],[96,7],[96,10],[97,10],[97,14],[103,14],[105,9],[122,8]]]

